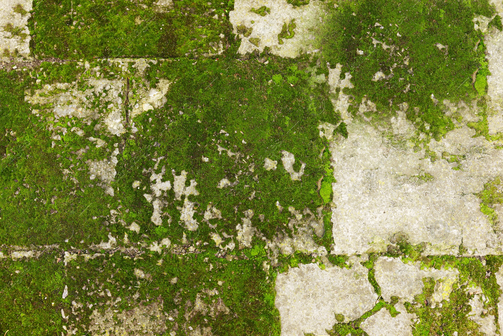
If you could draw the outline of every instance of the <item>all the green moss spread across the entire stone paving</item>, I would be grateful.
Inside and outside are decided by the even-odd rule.
[[[301,6],[308,1],[289,3]],[[145,4],[147,9],[141,6],[128,8],[130,3],[121,1],[112,7],[104,2],[35,2],[30,19],[30,30],[34,32],[31,47],[38,57],[87,58],[91,69],[101,67],[100,73],[105,79],[123,80],[121,77],[125,74],[117,64],[92,59],[93,56],[187,56],[157,59],[157,63],[149,63],[145,75],[132,68],[133,62],[126,62],[131,83],[128,99],[132,106],[139,102],[140,84],[148,90],[161,79],[172,82],[164,106],[134,118],[138,128],[136,133],[127,128],[126,135],[111,136],[100,129],[98,120],[87,124],[77,118],[62,117],[55,121],[51,119],[52,105],[32,106],[25,101],[25,90],[33,94],[47,84],[75,83],[79,90],[90,88],[87,80],[96,72],[86,71],[82,63],[42,62],[27,71],[0,72],[0,125],[6,128],[5,133],[3,129],[0,133],[0,242],[5,244],[3,246],[59,244],[57,251],[46,250],[38,259],[0,259],[0,277],[3,279],[0,282],[3,297],[0,302],[0,330],[10,329],[9,334],[58,333],[63,325],[69,325],[60,311],[71,311],[72,301],[92,303],[93,309],[103,312],[114,306],[110,300],[117,297],[122,298],[113,308],[118,311],[131,309],[141,300],[144,300],[143,303],[147,299],[150,300],[148,302],[162,302],[163,312],[179,311],[175,320],[168,322],[168,327],[174,327],[175,322],[182,326],[187,323],[185,315],[192,312],[198,294],[216,288],[219,298],[229,307],[229,314],[210,318],[194,313],[191,323],[211,326],[212,332],[219,335],[279,336],[280,319],[274,306],[276,273],[301,263],[316,262],[320,268],[325,265],[317,254],[313,256],[305,251],[296,251],[292,255],[280,255],[278,263],[268,269],[265,265],[270,262],[270,251],[264,248],[265,241],[255,236],[251,248],[239,246],[236,225],[242,221],[243,212],[253,209],[252,225],[266,239],[274,239],[279,233],[291,236],[294,232],[287,226],[292,217],[288,207],[299,211],[307,208],[316,214],[317,209],[323,206],[324,234],[320,238],[313,236],[313,239],[319,246],[330,250],[333,238],[329,204],[331,183],[336,181],[330,165],[330,153],[326,150],[328,143],[319,137],[316,126],[320,121],[338,124],[340,116],[333,113],[330,103],[333,97],[328,95],[327,85],[312,79],[319,74],[327,75],[326,66],[320,65],[327,60],[332,68],[341,62],[344,70],[353,75],[355,87],[345,89],[352,96],[352,102],[369,95],[369,99],[383,111],[368,116],[384,120],[391,115],[386,111],[393,111],[396,105],[406,101],[412,107],[420,107],[417,116],[412,116],[410,109],[408,117],[418,118],[423,131],[427,131],[425,122],[429,123],[431,128],[428,133],[435,137],[454,126],[451,119],[444,115],[440,104],[435,105],[431,94],[434,93],[439,101],[444,98],[467,100],[478,94],[479,115],[482,118],[469,126],[476,130],[477,136],[495,139],[488,135],[483,97],[485,78],[489,75],[483,36],[473,30],[471,22],[473,13],[487,17],[492,15],[487,2],[439,3],[436,6],[409,1],[339,2],[339,7],[331,10],[332,21],[328,23],[324,35],[322,50],[325,58],[301,56],[281,59],[265,51],[260,57],[267,57],[267,65],[253,59],[230,60],[236,57],[239,43],[231,38],[232,27],[227,20],[232,2],[218,2],[210,6],[206,1],[180,1],[165,13],[154,11],[152,2]],[[210,13],[210,9],[215,11]],[[27,14],[22,8],[16,7],[15,11]],[[264,16],[269,11],[261,7],[255,13]],[[213,19],[214,14],[219,19]],[[77,23],[73,25],[73,21]],[[375,22],[384,28],[375,26]],[[491,25],[496,26],[497,22]],[[295,28],[293,20],[285,23],[278,36],[279,41],[293,37]],[[23,34],[16,29],[8,26],[6,30],[13,35]],[[244,25],[237,27],[238,33],[245,37],[251,35],[251,29]],[[382,43],[374,48],[367,31],[368,35],[375,33],[375,39],[395,46],[393,51],[389,48],[384,50]],[[221,38],[220,33],[226,37]],[[478,39],[482,42],[473,50]],[[191,58],[215,53],[220,42],[227,52],[222,57],[218,56],[219,60],[195,61]],[[258,46],[260,40],[250,39],[250,42]],[[439,50],[435,46],[437,42],[448,48]],[[357,49],[365,54],[357,56]],[[11,55],[8,50],[4,52]],[[405,56],[408,56],[408,65],[405,64]],[[394,63],[397,66],[393,68]],[[390,68],[393,68],[393,77],[386,81],[371,81],[378,70],[390,75]],[[476,70],[476,80],[472,85],[471,76]],[[410,84],[410,90],[404,92],[406,83]],[[64,90],[54,89],[46,95],[60,92]],[[124,95],[120,97],[125,99]],[[95,104],[93,106],[98,106]],[[354,103],[350,109],[356,112],[358,105]],[[39,110],[39,116],[35,110]],[[61,142],[52,147],[49,123],[54,127],[79,127],[86,137],[78,137],[69,131],[62,136]],[[337,132],[348,137],[343,122],[339,123]],[[87,137],[104,139],[106,145],[96,148]],[[96,180],[89,180],[85,162],[108,158],[115,150],[114,144],[117,144],[120,153],[117,156],[117,175],[112,182],[115,197],[111,197],[96,185]],[[227,155],[226,151],[219,153],[217,144],[233,155]],[[87,153],[76,153],[86,146],[90,147]],[[300,181],[292,181],[281,165],[282,150],[295,155],[296,171],[300,168],[300,161],[306,163]],[[148,170],[154,169],[156,162],[152,159],[160,157],[164,158],[155,172],[159,173],[165,166],[165,180],[173,180],[170,172],[173,169],[176,175],[185,170],[188,180],[197,181],[199,194],[189,196],[195,204],[194,218],[199,223],[197,231],[184,229],[178,209],[183,206],[183,201],[174,199],[173,190],[163,196],[166,204],[162,209],[162,225],[156,226],[150,220],[152,205],[143,194],[151,192],[151,173]],[[201,157],[208,158],[208,162],[203,162]],[[433,154],[431,157],[435,159]],[[464,159],[459,156],[443,157],[449,162]],[[277,160],[278,168],[266,171],[263,168],[265,158]],[[63,174],[63,169],[71,173]],[[235,184],[217,188],[224,177]],[[420,174],[414,178],[421,183],[430,181],[433,176]],[[140,181],[140,187],[133,189],[133,181]],[[91,186],[90,182],[94,185]],[[497,224],[497,217],[492,207],[503,199],[500,189],[500,181],[495,179],[487,183],[479,194],[481,211],[489,216],[494,225]],[[277,201],[284,208],[282,212],[276,207]],[[222,219],[210,220],[216,229],[210,228],[204,221],[204,211],[210,204],[222,212]],[[117,212],[114,221],[109,217],[111,210]],[[167,221],[168,215],[170,222]],[[259,215],[264,215],[262,220]],[[133,221],[140,226],[139,234],[123,225]],[[236,243],[235,248],[222,251],[214,246],[210,234],[215,232],[223,237],[224,234],[232,235],[233,238],[225,238],[222,245],[232,241]],[[137,249],[137,252],[102,250],[107,255],[88,262],[77,257],[77,260],[63,266],[61,251],[80,254],[98,252],[86,249],[93,243],[107,241],[109,234],[121,241],[126,233],[131,241],[128,246],[133,246],[131,248]],[[166,237],[171,239],[172,245],[164,249],[163,254],[141,247]],[[426,244],[412,245],[408,237],[401,233],[391,237],[391,243],[386,253],[370,254],[365,262],[369,269],[368,280],[378,295],[381,289],[375,280],[374,262],[381,255],[401,256],[404,262],[420,261],[423,267],[457,267],[459,283],[466,281],[469,285],[480,286],[489,298],[484,308],[493,308],[494,311],[500,295],[494,273],[501,265],[501,257],[426,257],[422,255]],[[194,253],[187,252],[189,246],[194,248]],[[8,249],[5,247],[3,252],[8,254]],[[466,249],[461,244],[460,253],[464,252]],[[326,257],[332,264],[350,267],[347,256],[328,254]],[[138,279],[134,275],[135,268],[141,269],[147,277]],[[175,277],[178,282],[172,283],[170,280]],[[65,299],[61,296],[64,286],[69,289]],[[96,290],[100,286],[100,290],[108,289],[112,299],[96,293],[88,296],[90,290],[83,290],[84,286],[95,286]],[[465,287],[455,288],[450,302],[443,302],[442,308],[434,309],[428,303],[431,303],[435,286],[435,281],[426,279],[424,293],[416,298],[422,306],[407,304],[407,310],[416,313],[421,321],[414,324],[413,333],[448,334],[453,330],[459,330],[460,334],[466,331],[475,333],[478,326],[465,316],[469,299]],[[133,299],[135,294],[139,295],[138,299]],[[212,304],[210,297],[202,300],[205,304]],[[382,308],[396,316],[395,303],[396,298],[392,298],[390,303],[380,299],[364,316],[348,324],[336,324],[330,334],[346,335],[351,332],[353,335],[364,335],[360,323]],[[79,317],[78,323],[90,325],[90,311],[88,309],[81,315],[72,314],[71,318]],[[440,312],[441,316],[437,316],[436,312]],[[341,316],[336,318],[342,322]],[[178,331],[178,334],[183,333]]]

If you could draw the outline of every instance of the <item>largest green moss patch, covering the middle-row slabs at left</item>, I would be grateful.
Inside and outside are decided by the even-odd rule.
[[[1,189],[3,191],[0,196],[0,207],[3,209],[3,220],[0,220],[2,241],[29,245],[39,244],[41,241],[44,244],[61,243],[69,239],[68,243],[64,243],[65,246],[78,247],[108,241],[109,233],[116,237],[123,236],[126,232],[129,232],[131,241],[139,241],[139,235],[131,234],[119,222],[112,224],[102,217],[109,216],[110,209],[117,209],[118,206],[128,210],[121,211],[118,218],[126,223],[135,221],[139,224],[140,235],[152,235],[152,241],[165,236],[181,239],[184,229],[178,224],[180,212],[177,207],[183,206],[183,201],[170,201],[164,211],[172,216],[173,224],[164,224],[159,228],[150,221],[152,206],[143,196],[143,193],[149,192],[148,189],[144,191],[142,188],[131,187],[134,180],[139,180],[142,187],[149,188],[148,174],[142,175],[138,167],[153,167],[153,156],[164,156],[159,169],[165,165],[174,169],[177,175],[185,170],[188,172],[188,179],[196,178],[200,194],[191,195],[190,199],[200,209],[206,209],[211,202],[222,211],[222,216],[230,221],[211,222],[217,224],[219,230],[225,230],[229,234],[235,232],[236,224],[233,223],[240,221],[242,212],[253,209],[256,213],[253,225],[269,239],[273,238],[278,227],[283,228],[290,217],[286,210],[282,213],[278,211],[276,201],[285,209],[289,206],[296,209],[307,207],[316,214],[316,208],[323,203],[322,197],[316,192],[317,182],[320,176],[326,175],[328,177],[325,178],[328,179],[331,175],[326,168],[322,168],[329,166],[328,152],[322,158],[318,157],[321,148],[327,144],[319,138],[316,126],[320,120],[334,124],[338,120],[323,103],[327,100],[324,87],[311,86],[308,75],[302,68],[299,69],[297,63],[301,62],[298,60],[280,63],[271,59],[267,66],[254,61],[226,63],[202,60],[193,63],[190,59],[150,63],[146,74],[150,86],[155,86],[158,81],[155,77],[176,83],[170,87],[164,107],[144,113],[134,120],[139,131],[134,139],[129,138],[127,141],[106,135],[104,130],[96,127],[98,120],[87,124],[76,118],[73,121],[60,118],[57,122],[50,123],[54,127],[68,128],[67,124],[70,122],[72,127],[82,129],[86,136],[82,138],[68,132],[62,137],[62,142],[58,143],[61,146],[51,148],[51,132],[46,130],[47,118],[52,114],[51,107],[30,106],[24,101],[23,90],[25,87],[35,90],[46,84],[64,82],[75,82],[79,90],[84,90],[91,73],[85,72],[83,66],[74,62],[43,62],[40,68],[24,72],[25,77],[17,79],[18,93],[12,95],[11,92],[3,91],[9,97],[5,102],[16,97],[16,104],[25,111],[22,115],[26,121],[23,124],[15,123],[18,127],[14,128],[18,135],[17,141],[8,140],[11,139],[9,136],[2,145],[9,158],[1,162],[1,167],[6,172],[3,174],[3,185],[7,187]],[[117,65],[109,65],[101,60],[92,62],[91,68],[99,64],[105,78],[115,79],[117,75],[112,73],[121,72]],[[134,71],[133,68],[130,69]],[[268,83],[278,77],[294,82],[295,88],[284,81]],[[35,83],[35,79],[40,79],[40,83]],[[131,83],[133,79],[145,84],[134,73],[130,77]],[[136,88],[131,88],[129,93],[131,104],[137,99],[135,90]],[[57,90],[51,91],[51,94],[55,93]],[[304,111],[312,105],[315,106],[317,115],[305,114]],[[35,118],[30,113],[30,108],[38,109],[40,118]],[[15,110],[9,111],[10,114],[6,114],[9,116],[6,117],[6,128],[20,116]],[[285,120],[288,120],[288,124]],[[29,126],[31,123],[36,126]],[[27,131],[26,127],[35,128]],[[220,133],[221,129],[225,129],[229,136]],[[33,132],[38,132],[36,138]],[[105,139],[107,145],[96,148],[87,140],[91,136]],[[257,139],[260,141],[254,141]],[[236,162],[235,157],[229,157],[225,152],[219,155],[216,146],[218,141],[220,146],[233,153],[240,153],[240,160]],[[111,197],[96,185],[96,181],[89,181],[85,162],[108,157],[115,149],[114,143],[118,144],[120,154],[117,175],[112,183],[116,197]],[[76,150],[86,146],[90,149],[77,159],[79,154]],[[301,181],[292,181],[281,165],[276,171],[263,169],[266,157],[281,162],[282,150],[295,155],[295,169],[299,169],[299,160],[307,164]],[[15,153],[19,156],[15,156]],[[203,163],[194,159],[202,156],[208,157],[210,162]],[[82,169],[70,167],[77,162],[80,162]],[[250,165],[254,165],[254,172],[249,170]],[[62,169],[70,171],[69,176],[79,181],[78,186],[82,188],[75,185],[68,175],[62,174]],[[216,187],[223,177],[228,176],[231,181],[235,181],[236,175],[238,183],[233,187]],[[90,182],[93,187],[89,186]],[[23,183],[29,184],[30,188],[23,187]],[[15,194],[18,187],[21,188],[19,195]],[[251,197],[253,192],[255,198]],[[53,203],[47,201],[52,198]],[[199,211],[194,217],[199,223],[205,223],[204,212]],[[263,222],[259,221],[259,214],[265,215]],[[327,249],[330,249],[331,244],[330,215],[329,211],[323,214],[325,234],[321,239],[316,238]],[[290,229],[286,230],[290,234]],[[209,233],[210,228],[200,224],[197,232],[187,232],[187,235],[211,241]]]

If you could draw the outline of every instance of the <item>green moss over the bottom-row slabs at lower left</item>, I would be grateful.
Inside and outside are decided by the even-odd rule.
[[[140,302],[143,305],[157,302],[163,312],[175,318],[166,320],[168,331],[175,323],[184,325],[188,322],[186,316],[191,316],[190,325],[210,326],[221,335],[280,334],[279,314],[274,307],[274,282],[268,280],[261,266],[267,258],[228,261],[215,257],[214,251],[204,250],[185,256],[146,253],[137,259],[115,253],[87,262],[78,257],[64,266],[58,257],[62,254],[47,252],[39,259],[0,261],[3,279],[0,293],[4,298],[0,302],[0,327],[3,331],[10,329],[10,334],[24,335],[30,330],[30,333],[45,335],[59,333],[63,325],[72,325],[73,329],[78,328],[78,334],[85,334],[86,326],[94,322],[89,315],[95,309],[102,313],[112,306],[122,312]],[[144,279],[134,275],[135,268],[144,272]],[[178,279],[176,283],[171,282],[174,278]],[[222,285],[218,285],[219,281]],[[68,296],[63,299],[65,286]],[[204,304],[213,304],[211,300],[215,297],[203,291],[214,288],[229,313],[211,317],[208,313],[193,312],[198,295],[203,294]],[[99,294],[107,290],[110,297]],[[119,297],[121,300],[117,300]],[[72,302],[85,306],[73,308],[76,313],[73,315]],[[90,309],[89,304],[94,307]],[[62,318],[61,309],[69,313],[68,320]],[[174,313],[175,309],[178,313]]]

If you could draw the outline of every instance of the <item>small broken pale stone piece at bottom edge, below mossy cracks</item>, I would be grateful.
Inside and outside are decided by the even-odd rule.
[[[365,319],[360,327],[369,336],[412,336],[411,319],[417,318],[415,314],[407,313],[403,303],[397,303],[395,309],[400,314],[392,317],[386,308],[381,308],[377,313]]]

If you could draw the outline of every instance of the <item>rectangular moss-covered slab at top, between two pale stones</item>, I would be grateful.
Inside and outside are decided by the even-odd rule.
[[[203,0],[182,0],[163,9],[154,3],[146,0],[142,6],[132,6],[119,0],[110,6],[105,0],[35,1],[29,20],[30,46],[38,58],[92,59],[201,57],[217,54],[220,43],[224,50],[235,43],[228,20],[232,1],[208,5]]]

